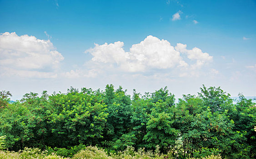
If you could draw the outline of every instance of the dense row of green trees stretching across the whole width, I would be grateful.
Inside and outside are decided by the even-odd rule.
[[[0,92],[0,136],[5,146],[66,148],[96,145],[107,152],[127,146],[179,158],[221,154],[227,159],[256,157],[256,106],[242,94],[234,104],[220,87],[183,95],[175,103],[167,87],[126,94],[112,84],[105,90],[70,87],[66,93],[25,94],[9,104]]]

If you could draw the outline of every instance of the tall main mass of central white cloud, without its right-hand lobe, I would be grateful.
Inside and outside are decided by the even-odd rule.
[[[123,42],[114,44],[95,44],[85,53],[93,55],[92,61],[117,65],[128,72],[145,72],[150,69],[167,69],[177,65],[186,66],[180,53],[167,40],[147,36],[139,44],[132,45],[130,52],[125,52]]]

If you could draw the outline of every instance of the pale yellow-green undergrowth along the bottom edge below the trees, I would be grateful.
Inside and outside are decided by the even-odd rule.
[[[63,150],[61,149],[61,151]],[[59,154],[61,152],[60,149],[51,149],[51,152],[49,152],[47,150],[41,151],[38,148],[25,148],[19,152],[0,150],[0,159],[182,159],[182,156],[160,154],[159,147],[156,147],[155,152],[153,152],[145,151],[145,149],[135,151],[133,147],[128,146],[124,151],[108,154],[104,149],[96,146],[87,146],[72,155],[72,157],[61,156],[56,154],[55,151]],[[68,155],[68,152],[62,153],[66,156]],[[203,159],[221,159],[221,156],[212,154]]]

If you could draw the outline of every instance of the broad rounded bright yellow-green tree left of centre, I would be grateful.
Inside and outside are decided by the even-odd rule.
[[[67,94],[49,97],[51,146],[73,146],[77,144],[100,144],[103,138],[107,112],[106,105],[98,98],[99,92],[69,89]],[[65,139],[65,140],[63,140]]]

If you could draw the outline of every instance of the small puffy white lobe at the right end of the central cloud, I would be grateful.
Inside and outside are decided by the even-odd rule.
[[[212,56],[210,56],[208,53],[203,53],[202,50],[197,47],[194,47],[192,50],[187,50],[186,47],[186,44],[178,43],[175,49],[181,53],[186,53],[189,59],[196,60],[196,64],[192,65],[192,68],[199,68],[213,59]]]

